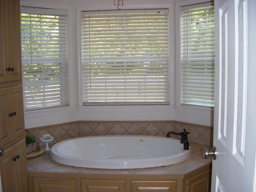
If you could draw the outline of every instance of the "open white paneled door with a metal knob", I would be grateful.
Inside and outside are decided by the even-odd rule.
[[[256,149],[256,0],[215,0],[212,192],[252,192]]]

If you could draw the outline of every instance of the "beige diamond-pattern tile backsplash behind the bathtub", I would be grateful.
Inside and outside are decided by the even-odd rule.
[[[54,137],[52,143],[60,142],[70,138],[82,136],[98,135],[150,135],[163,136],[167,132],[182,132],[183,129],[189,131],[188,141],[198,144],[212,146],[213,128],[176,121],[154,121],[154,122],[96,122],[79,121],[65,124],[58,124],[46,127],[29,129],[34,133],[40,145],[43,143],[39,138],[44,134],[51,134]],[[171,135],[173,138],[180,139],[180,136]]]

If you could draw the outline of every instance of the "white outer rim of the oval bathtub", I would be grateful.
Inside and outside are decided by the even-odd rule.
[[[180,140],[175,138],[166,138],[162,136],[144,136],[144,135],[103,135],[103,136],[84,136],[78,138],[71,138],[67,140],[63,140],[58,142],[52,146],[50,150],[50,158],[57,163],[68,165],[68,166],[75,166],[75,167],[83,167],[83,168],[96,168],[96,169],[137,169],[137,168],[153,168],[153,167],[160,167],[160,166],[169,166],[172,164],[177,164],[187,160],[191,154],[191,148],[189,150],[182,150],[182,152],[178,152],[175,155],[170,156],[163,156],[157,158],[148,158],[142,160],[135,160],[135,161],[102,161],[102,160],[84,160],[81,162],[79,158],[71,158],[71,156],[63,155],[59,152],[56,152],[55,148],[57,148],[60,144],[64,142],[68,142],[70,140],[76,139],[83,139],[83,138],[111,138],[111,137],[136,137],[136,138],[158,138],[158,139],[165,139],[165,140],[174,140],[180,143]],[[183,144],[180,144],[183,146]],[[62,155],[62,158],[60,158]],[[171,162],[170,162],[171,160]]]

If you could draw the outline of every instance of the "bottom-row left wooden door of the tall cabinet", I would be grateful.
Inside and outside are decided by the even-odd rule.
[[[13,165],[12,148],[5,150],[4,155],[0,157],[2,192],[16,192],[15,169]]]

